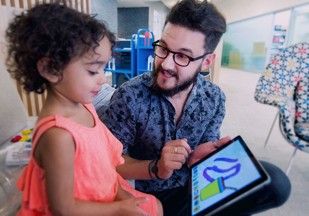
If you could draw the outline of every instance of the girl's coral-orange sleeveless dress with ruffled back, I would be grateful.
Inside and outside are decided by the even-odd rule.
[[[33,158],[33,149],[40,136],[51,127],[69,131],[75,142],[74,197],[79,200],[112,202],[117,192],[117,181],[135,197],[149,197],[141,204],[146,212],[157,215],[154,196],[134,190],[117,172],[123,164],[122,144],[99,120],[92,104],[84,104],[95,120],[95,127],[84,127],[60,115],[40,120],[32,136],[32,158],[17,182],[23,190],[21,209],[17,215],[52,215],[45,189],[44,169]],[[65,144],[65,142],[64,142]]]

